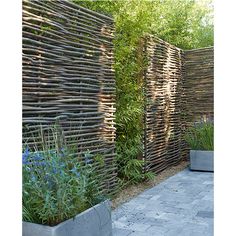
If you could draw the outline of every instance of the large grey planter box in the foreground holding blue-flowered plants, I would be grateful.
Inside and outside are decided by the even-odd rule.
[[[23,236],[112,236],[111,204],[104,201],[56,226],[23,222]]]

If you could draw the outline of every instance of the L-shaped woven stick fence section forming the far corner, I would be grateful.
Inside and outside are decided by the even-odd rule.
[[[159,173],[188,156],[183,135],[199,119],[213,118],[213,47],[183,51],[156,37],[144,52],[145,171]]]

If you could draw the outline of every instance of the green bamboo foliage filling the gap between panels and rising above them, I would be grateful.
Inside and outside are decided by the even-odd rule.
[[[211,1],[119,0],[73,2],[115,20],[117,163],[120,178],[143,180],[141,165],[144,93],[141,39],[154,34],[183,49],[213,45]]]

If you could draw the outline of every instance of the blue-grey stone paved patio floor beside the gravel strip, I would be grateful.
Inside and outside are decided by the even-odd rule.
[[[124,203],[113,236],[213,236],[213,175],[185,169]]]

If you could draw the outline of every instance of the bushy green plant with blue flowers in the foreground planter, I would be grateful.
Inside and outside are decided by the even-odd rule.
[[[42,134],[42,146],[24,145],[23,220],[54,226],[105,200],[101,194],[98,168],[104,166],[101,155],[74,154],[63,144],[56,129],[47,142]]]

